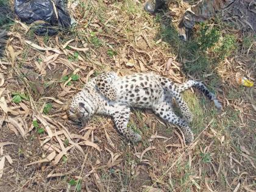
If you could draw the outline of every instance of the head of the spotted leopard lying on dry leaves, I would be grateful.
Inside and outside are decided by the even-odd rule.
[[[74,96],[68,106],[68,118],[74,123],[83,126],[92,115],[91,107],[86,99]]]

